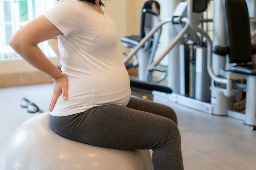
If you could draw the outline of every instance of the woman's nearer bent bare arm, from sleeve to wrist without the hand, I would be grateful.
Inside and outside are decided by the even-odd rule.
[[[62,32],[49,20],[40,16],[19,29],[9,44],[29,64],[56,80],[63,74],[45,56],[37,44],[61,34]]]

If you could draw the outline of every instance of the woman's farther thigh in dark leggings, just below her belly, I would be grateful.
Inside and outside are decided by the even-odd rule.
[[[167,117],[168,119],[174,121],[177,124],[177,116],[175,111],[164,104],[131,97],[126,107]]]

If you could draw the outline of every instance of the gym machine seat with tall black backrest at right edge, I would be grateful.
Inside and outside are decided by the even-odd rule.
[[[256,126],[256,66],[252,62],[252,55],[256,54],[256,45],[251,44],[247,4],[244,0],[225,0],[223,5],[227,45],[215,46],[214,53],[220,56],[228,55],[229,63],[236,64],[228,71],[223,71],[228,75],[225,76],[228,83],[224,94],[234,96],[232,81],[246,78],[245,124]]]

